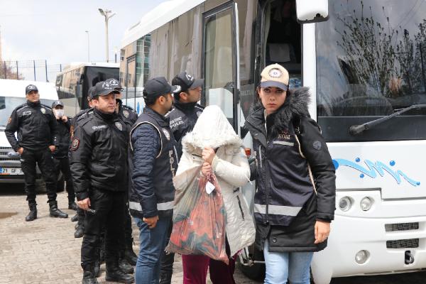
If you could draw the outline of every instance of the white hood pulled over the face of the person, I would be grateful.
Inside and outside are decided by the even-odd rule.
[[[188,153],[201,153],[204,147],[226,147],[226,152],[239,151],[243,145],[222,109],[212,105],[206,107],[191,132],[182,138],[182,148]]]

